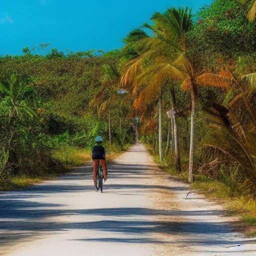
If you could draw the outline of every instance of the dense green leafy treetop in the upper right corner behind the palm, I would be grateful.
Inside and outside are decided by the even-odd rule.
[[[240,0],[214,0],[201,7],[188,32],[193,44],[191,54],[200,56],[205,67],[212,68],[233,64],[239,55],[254,52],[256,25],[247,20],[246,13]]]

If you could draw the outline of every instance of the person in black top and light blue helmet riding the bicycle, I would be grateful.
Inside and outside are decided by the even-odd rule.
[[[95,141],[96,141],[96,145],[93,146],[92,148],[92,160],[93,160],[93,181],[94,181],[94,186],[97,189],[96,173],[98,170],[99,163],[103,168],[104,181],[106,181],[107,179],[107,168],[106,168],[105,148],[103,145],[101,145],[102,137],[96,136]]]

